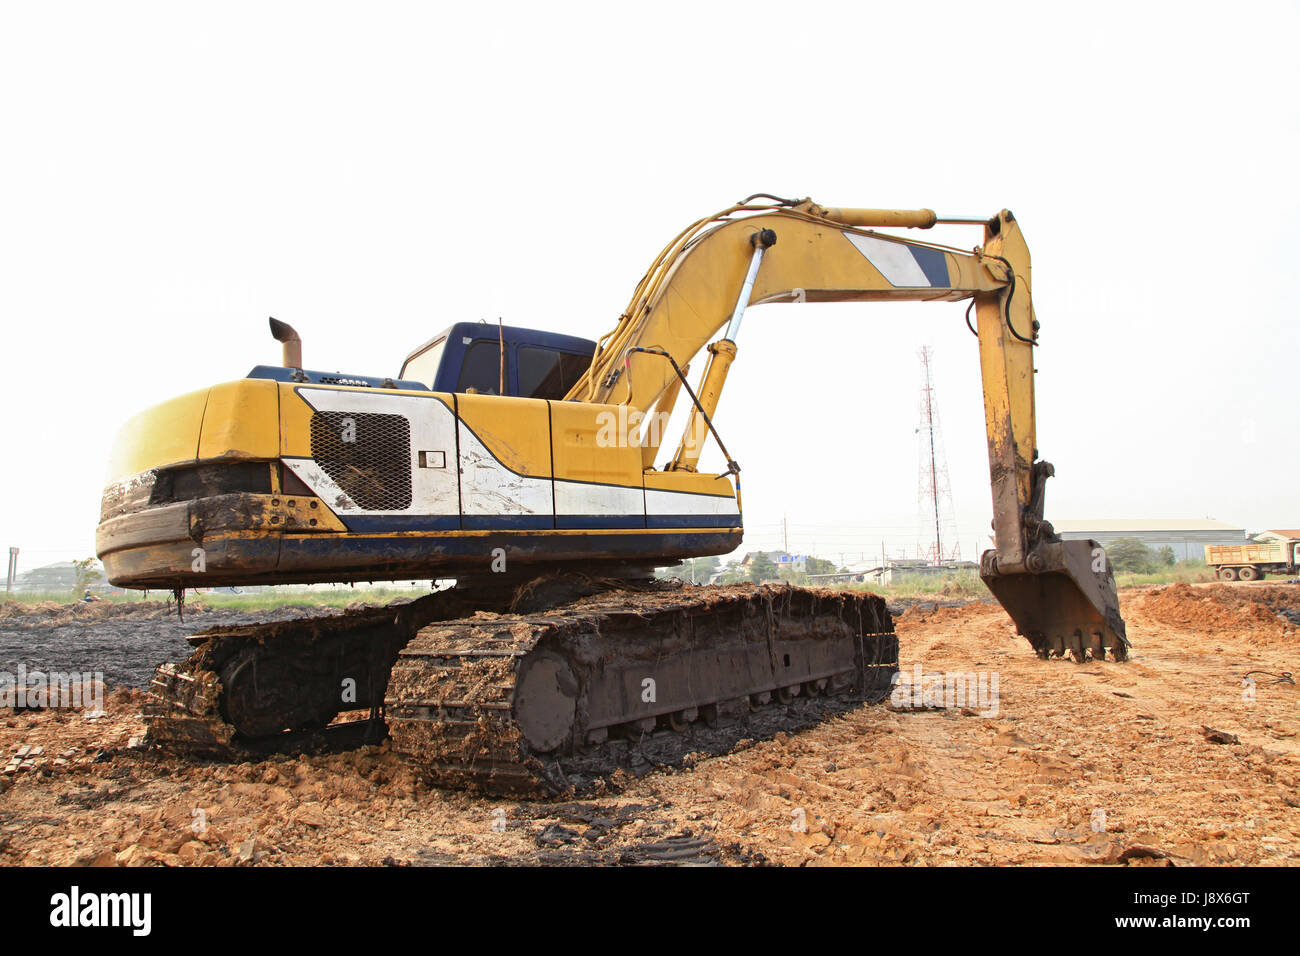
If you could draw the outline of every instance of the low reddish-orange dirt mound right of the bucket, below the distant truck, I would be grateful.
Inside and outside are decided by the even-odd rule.
[[[1274,610],[1296,597],[1280,588],[1240,588],[1222,584],[1193,588],[1170,584],[1147,592],[1141,613],[1162,624],[1222,635],[1232,632],[1256,640],[1295,640],[1295,624]]]

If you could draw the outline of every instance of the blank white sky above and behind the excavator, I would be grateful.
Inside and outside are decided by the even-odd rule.
[[[459,320],[597,337],[754,191],[1011,208],[1048,516],[1296,527],[1296,4],[0,4],[0,546],[90,554],[118,424]],[[972,246],[978,229],[927,238]],[[746,548],[914,549],[919,368],[988,528],[963,306],[764,306],[718,427]],[[707,463],[707,459],[706,459]],[[1247,467],[1248,466],[1248,467]]]

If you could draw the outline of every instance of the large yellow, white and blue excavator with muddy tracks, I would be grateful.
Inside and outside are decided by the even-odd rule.
[[[983,246],[879,232],[936,224],[980,226]],[[758,194],[673,238],[599,342],[459,323],[389,378],[304,368],[298,333],[273,319],[280,365],[121,431],[98,532],[109,580],[178,598],[455,584],[194,635],[191,657],[153,679],[150,739],[238,754],[386,734],[439,783],[564,792],[887,696],[898,644],[879,597],[653,578],[741,544],[740,466],[715,412],[746,308],[775,302],[970,300],[996,544],[980,575],[1040,656],[1123,659],[1105,553],[1044,519],[1030,290],[1005,209],[944,219]],[[684,433],[666,446],[682,395]],[[710,440],[722,473],[698,470]]]

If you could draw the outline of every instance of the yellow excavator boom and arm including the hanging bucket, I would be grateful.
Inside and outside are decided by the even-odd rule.
[[[1039,459],[1035,438],[1039,323],[1030,251],[1015,217],[1005,209],[988,220],[940,219],[928,209],[754,199],[692,224],[663,250],[567,398],[666,416],[686,384],[682,369],[707,347],[685,434],[667,466],[694,471],[748,306],[968,299],[967,324],[974,311],[979,337],[996,545],[983,555],[980,574],[1040,654],[1126,657],[1105,553],[1095,541],[1061,541],[1044,519],[1053,468]],[[939,222],[982,224],[984,243],[965,251],[876,232]],[[641,438],[647,468],[656,437],[658,429],[647,429]]]

